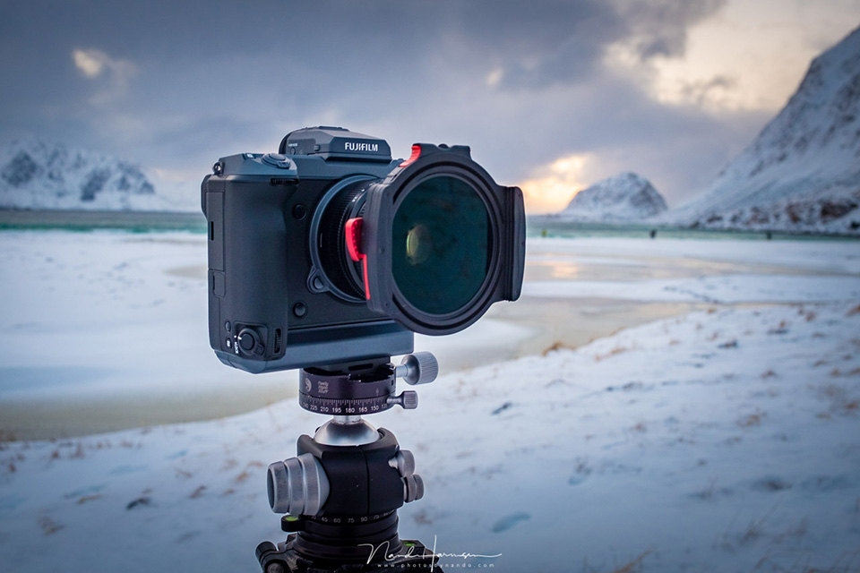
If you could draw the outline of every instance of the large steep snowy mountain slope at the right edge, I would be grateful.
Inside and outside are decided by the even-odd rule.
[[[860,233],[860,29],[816,57],[753,143],[661,221]]]

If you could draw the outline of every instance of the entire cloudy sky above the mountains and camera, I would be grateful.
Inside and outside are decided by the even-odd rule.
[[[704,191],[860,0],[0,0],[0,144],[141,165],[193,205],[299,127],[466,144],[531,214],[622,171]]]

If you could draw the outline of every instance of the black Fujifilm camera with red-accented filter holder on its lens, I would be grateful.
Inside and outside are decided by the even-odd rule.
[[[201,199],[210,344],[247,372],[409,354],[414,332],[457,332],[520,295],[522,192],[466,146],[392,160],[383,139],[309,127],[220,158]]]

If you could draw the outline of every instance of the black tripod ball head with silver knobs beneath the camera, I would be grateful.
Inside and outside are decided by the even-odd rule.
[[[434,381],[438,364],[430,353],[389,360],[302,370],[299,405],[333,417],[298,439],[295,458],[269,466],[269,504],[287,514],[289,535],[257,546],[264,573],[443,573],[423,543],[397,535],[397,509],[424,496],[415,457],[362,418],[417,407],[415,391],[394,396],[395,381]]]

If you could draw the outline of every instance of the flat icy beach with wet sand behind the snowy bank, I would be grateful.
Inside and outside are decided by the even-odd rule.
[[[0,247],[7,439],[213,419],[295,398],[296,372],[253,376],[212,355],[204,235],[3,232]],[[456,335],[419,336],[416,348],[456,372],[714,305],[860,297],[856,251],[831,241],[530,239],[519,302]]]

